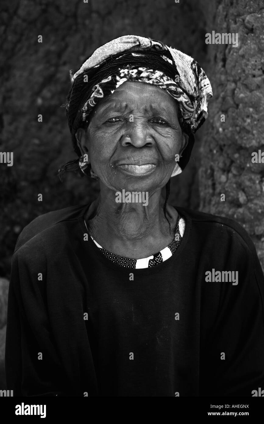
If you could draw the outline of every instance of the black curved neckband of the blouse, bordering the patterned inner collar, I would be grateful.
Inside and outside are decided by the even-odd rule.
[[[171,263],[175,262],[178,256],[181,254],[181,252],[185,248],[185,245],[189,237],[192,220],[190,216],[187,214],[187,212],[185,211],[185,209],[173,206],[177,212],[179,209],[179,212],[180,212],[179,215],[181,215],[181,217],[185,221],[185,229],[184,229],[184,234],[183,234],[181,243],[178,246],[177,250],[173,253],[173,255],[170,258],[166,259],[164,262],[161,262],[160,264],[155,265],[153,267],[149,267],[149,268],[125,268],[123,266],[116,265],[114,262],[107,259],[107,257],[104,256],[104,254],[102,254],[100,249],[96,246],[96,244],[91,239],[90,234],[88,234],[87,232],[87,228],[85,225],[85,213],[88,211],[90,205],[91,204],[88,204],[83,207],[83,209],[80,212],[80,216],[78,218],[80,227],[82,229],[82,243],[84,243],[85,251],[87,252],[89,257],[91,257],[91,254],[95,255],[97,259],[99,259],[100,262],[103,262],[104,265],[106,265],[108,268],[112,268],[116,271],[120,271],[121,273],[124,273],[126,275],[127,273],[134,273],[137,275],[149,275],[149,274],[158,273],[162,271],[164,268],[167,268],[168,266],[170,266]],[[84,234],[88,234],[88,240],[84,240],[84,236],[83,236]]]

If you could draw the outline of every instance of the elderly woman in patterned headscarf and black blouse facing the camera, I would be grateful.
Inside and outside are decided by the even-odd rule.
[[[198,63],[122,36],[73,75],[67,117],[91,204],[19,236],[6,375],[19,396],[255,396],[264,276],[234,220],[168,204],[212,97]],[[166,197],[162,198],[162,188]],[[147,200],[147,201],[146,201]],[[256,395],[258,396],[258,395]]]

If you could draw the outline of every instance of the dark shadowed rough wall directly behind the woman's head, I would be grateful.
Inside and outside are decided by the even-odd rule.
[[[0,165],[0,275],[9,277],[14,245],[27,223],[50,210],[85,204],[98,192],[96,181],[70,173],[61,183],[56,175],[76,157],[60,108],[70,88],[69,70],[124,34],[162,40],[202,63],[205,21],[191,0],[14,0],[3,6],[1,20],[0,151],[13,151],[14,165]],[[174,204],[198,208],[197,160],[172,180]]]

